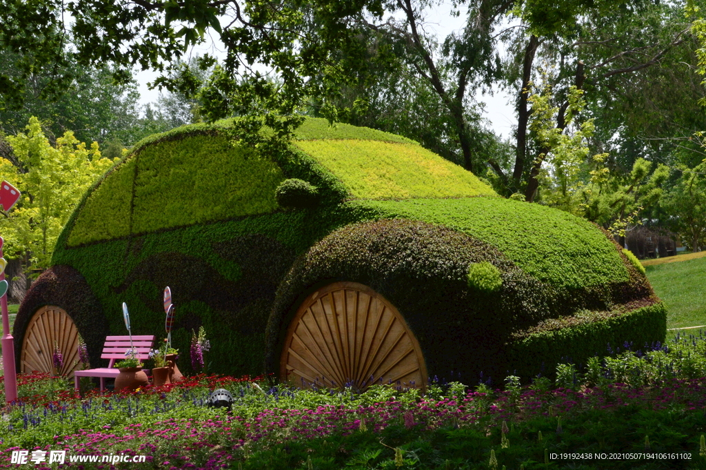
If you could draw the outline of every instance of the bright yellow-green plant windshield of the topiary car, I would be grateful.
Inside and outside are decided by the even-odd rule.
[[[296,141],[356,199],[494,196],[471,172],[411,143]]]

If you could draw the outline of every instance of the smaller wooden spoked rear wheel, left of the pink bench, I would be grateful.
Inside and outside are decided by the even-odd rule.
[[[62,376],[73,376],[78,368],[78,329],[65,310],[46,305],[30,319],[22,342],[22,372],[54,373],[54,346],[64,356]]]

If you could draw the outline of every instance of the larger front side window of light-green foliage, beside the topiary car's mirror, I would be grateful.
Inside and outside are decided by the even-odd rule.
[[[284,179],[272,160],[222,136],[148,146],[138,155],[133,232],[274,211]]]

